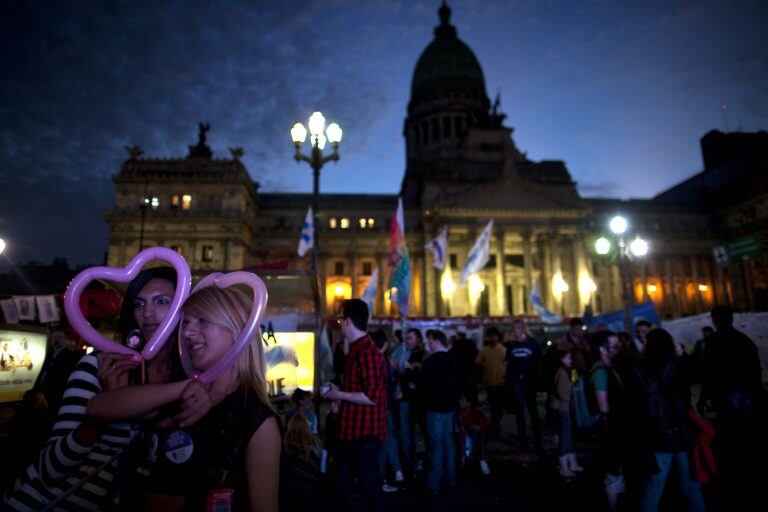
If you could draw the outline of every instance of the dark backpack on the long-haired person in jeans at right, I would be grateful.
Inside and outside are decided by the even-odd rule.
[[[665,453],[689,450],[696,443],[696,426],[691,421],[688,405],[670,387],[674,365],[668,364],[660,379],[649,379],[639,365],[631,368],[643,390],[652,449]]]

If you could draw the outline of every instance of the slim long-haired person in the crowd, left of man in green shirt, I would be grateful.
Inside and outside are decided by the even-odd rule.
[[[576,476],[576,472],[583,469],[576,462],[571,433],[571,392],[573,391],[571,368],[573,359],[571,353],[565,350],[558,350],[557,357],[560,361],[560,367],[555,373],[554,386],[549,394],[548,406],[557,411],[560,420],[560,475],[565,478],[573,478]]]

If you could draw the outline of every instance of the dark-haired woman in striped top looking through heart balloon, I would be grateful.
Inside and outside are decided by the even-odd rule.
[[[152,337],[168,313],[175,287],[176,272],[169,267],[145,269],[130,283],[118,322],[124,344],[140,350]],[[173,347],[166,343],[146,362],[147,382],[171,379],[177,367]],[[138,367],[130,356],[120,354],[88,354],[80,360],[67,382],[51,436],[36,462],[4,496],[7,507],[102,510],[117,499],[119,462],[138,427],[110,419],[134,416],[110,400],[99,403],[98,398],[140,382]],[[103,413],[110,409],[111,413]]]

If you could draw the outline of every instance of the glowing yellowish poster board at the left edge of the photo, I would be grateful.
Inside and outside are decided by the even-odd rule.
[[[32,389],[47,349],[47,329],[0,324],[0,403],[20,401]]]

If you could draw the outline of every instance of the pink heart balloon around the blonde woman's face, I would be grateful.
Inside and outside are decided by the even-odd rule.
[[[232,348],[222,356],[221,359],[216,361],[213,366],[208,368],[203,373],[199,373],[193,366],[189,357],[185,352],[183,337],[179,332],[179,354],[181,355],[181,362],[184,366],[184,371],[187,372],[191,378],[199,379],[203,384],[210,384],[216,380],[222,373],[228,370],[237,359],[240,354],[248,348],[251,340],[259,333],[259,324],[261,324],[262,318],[264,318],[264,312],[267,309],[267,286],[259,276],[252,272],[237,271],[230,272],[229,274],[222,274],[220,272],[214,272],[205,276],[197,285],[192,293],[205,288],[207,286],[218,286],[219,288],[229,288],[236,284],[244,284],[249,286],[253,290],[253,307],[251,308],[251,314],[248,317],[248,321],[245,323],[240,335],[237,337]],[[183,313],[182,313],[183,315]]]

